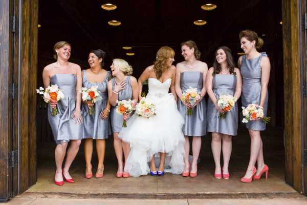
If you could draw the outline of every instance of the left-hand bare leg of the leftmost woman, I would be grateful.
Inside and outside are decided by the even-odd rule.
[[[65,157],[66,149],[67,149],[68,142],[64,142],[62,144],[59,144],[56,146],[54,151],[55,156],[55,165],[56,165],[56,175],[55,180],[56,181],[62,181],[62,163]]]

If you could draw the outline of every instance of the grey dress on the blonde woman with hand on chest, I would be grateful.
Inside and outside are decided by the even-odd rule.
[[[128,100],[128,99],[132,99],[132,88],[130,85],[130,75],[127,76],[126,78],[126,83],[127,85],[124,86],[124,90],[121,90],[118,92],[118,100]],[[115,82],[115,77],[111,79],[112,81],[112,87],[114,90],[114,82]],[[116,105],[117,106],[117,105]],[[115,107],[111,107],[111,125],[112,125],[112,130],[113,132],[120,132],[122,129],[122,125],[123,125],[123,116],[117,114],[116,112],[116,106]],[[130,116],[132,116],[133,113],[130,113]],[[128,118],[129,120],[130,118]],[[127,121],[128,121],[127,120]]]

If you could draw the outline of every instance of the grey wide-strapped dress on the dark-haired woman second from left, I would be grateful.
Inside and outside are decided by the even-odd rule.
[[[83,139],[93,138],[93,139],[107,139],[111,132],[110,117],[106,119],[101,119],[100,115],[106,108],[107,104],[107,82],[111,72],[107,72],[105,79],[100,83],[92,83],[87,79],[86,71],[83,70],[83,87],[91,88],[92,86],[98,86],[97,90],[100,92],[101,100],[98,100],[94,104],[95,114],[89,115],[89,106],[82,103],[82,113],[83,113]]]

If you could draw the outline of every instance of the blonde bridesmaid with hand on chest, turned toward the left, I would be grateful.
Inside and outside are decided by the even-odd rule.
[[[130,152],[130,145],[118,137],[118,133],[122,129],[123,116],[116,113],[116,100],[120,101],[123,99],[132,99],[134,101],[133,105],[135,106],[138,103],[138,81],[135,77],[131,76],[133,69],[123,59],[114,59],[111,66],[111,71],[112,75],[115,77],[108,81],[107,90],[108,100],[112,105],[111,124],[114,136],[114,149],[118,160],[118,170],[116,176],[129,177],[128,173],[123,173],[123,153],[126,161]],[[128,117],[129,113],[126,113],[124,118],[127,119]]]

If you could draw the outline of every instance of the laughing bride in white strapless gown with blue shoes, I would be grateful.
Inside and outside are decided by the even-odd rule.
[[[143,83],[148,79],[148,94],[146,98],[156,104],[156,115],[151,119],[134,114],[127,121],[119,137],[130,143],[131,151],[125,163],[124,171],[130,176],[164,175],[164,172],[181,174],[184,169],[183,158],[184,135],[182,125],[184,119],[177,110],[177,95],[175,91],[176,67],[172,65],[175,52],[170,47],[162,47],[157,52],[155,63],[147,67],[138,80],[139,100]],[[172,93],[168,93],[170,91]],[[160,156],[157,154],[160,153]],[[155,157],[156,155],[156,157]],[[160,157],[157,171],[155,158]],[[150,168],[148,163],[150,161]],[[156,160],[156,162],[159,160]]]

